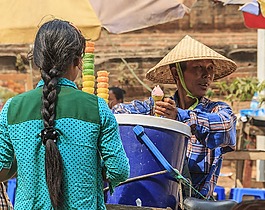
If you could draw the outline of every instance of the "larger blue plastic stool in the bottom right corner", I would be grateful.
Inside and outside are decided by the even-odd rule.
[[[265,199],[265,189],[231,188],[229,198],[241,202],[244,196],[253,196],[255,199]]]

